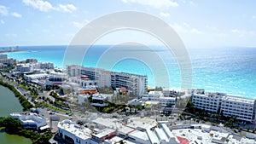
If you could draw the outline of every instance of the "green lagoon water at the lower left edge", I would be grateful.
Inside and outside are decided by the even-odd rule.
[[[20,101],[15,97],[12,91],[0,86],[0,92],[0,117],[8,117],[10,112],[22,112],[23,107],[21,107]],[[0,129],[0,143],[29,144],[32,143],[32,141],[23,136],[9,135]]]

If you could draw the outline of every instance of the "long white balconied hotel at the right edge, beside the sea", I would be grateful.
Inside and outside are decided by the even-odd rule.
[[[255,121],[256,103],[253,99],[195,90],[192,93],[192,102],[194,107],[207,112],[223,112],[225,117],[236,116],[236,119],[251,123]]]

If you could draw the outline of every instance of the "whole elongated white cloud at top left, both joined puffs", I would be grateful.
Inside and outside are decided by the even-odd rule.
[[[48,1],[44,0],[23,0],[23,3],[43,12],[48,12],[49,10],[58,10],[61,12],[72,13],[77,9],[73,4],[59,4],[55,7]]]

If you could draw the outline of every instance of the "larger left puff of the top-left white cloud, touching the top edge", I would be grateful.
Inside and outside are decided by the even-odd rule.
[[[51,3],[44,0],[23,0],[28,6],[32,6],[34,9],[39,9],[40,11],[47,12],[50,9],[54,9]]]

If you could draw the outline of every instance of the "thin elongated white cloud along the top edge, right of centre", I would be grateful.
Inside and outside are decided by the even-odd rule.
[[[177,7],[178,3],[171,0],[122,0],[124,3],[137,3],[147,5],[155,9]]]

